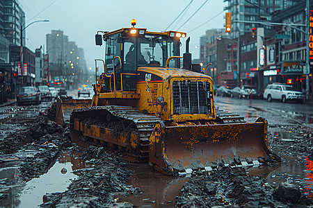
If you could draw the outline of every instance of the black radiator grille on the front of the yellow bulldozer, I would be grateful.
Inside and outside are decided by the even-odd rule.
[[[211,114],[211,92],[207,82],[174,81],[174,114]]]

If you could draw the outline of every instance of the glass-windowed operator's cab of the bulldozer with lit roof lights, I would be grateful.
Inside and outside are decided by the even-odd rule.
[[[101,92],[135,92],[138,67],[166,67],[169,57],[179,55],[180,41],[175,34],[152,33],[141,28],[105,33],[105,67],[102,73],[98,71],[97,77],[103,85]],[[96,35],[96,44],[102,44],[99,35]],[[179,66],[179,59],[170,61],[170,68]]]

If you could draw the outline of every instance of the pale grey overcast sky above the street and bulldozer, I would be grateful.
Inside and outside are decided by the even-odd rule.
[[[29,49],[35,51],[46,45],[46,35],[51,30],[61,30],[84,49],[88,67],[92,68],[95,58],[104,58],[104,47],[95,46],[97,31],[131,27],[131,19],[137,20],[138,28],[164,31],[189,3],[182,18],[178,18],[180,21],[175,21],[168,31],[186,32],[187,37],[191,37],[193,58],[199,58],[196,46],[200,36],[208,29],[223,28],[223,7],[226,6],[223,0],[19,0],[19,3],[26,14],[26,26],[36,20],[49,19],[49,22],[38,22],[26,28]],[[186,38],[182,39],[182,51],[185,42]]]

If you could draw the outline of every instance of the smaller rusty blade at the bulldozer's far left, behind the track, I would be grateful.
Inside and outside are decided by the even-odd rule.
[[[56,123],[65,125],[65,118],[70,120],[70,114],[74,109],[90,107],[90,99],[73,99],[72,97],[58,97],[56,101]]]

